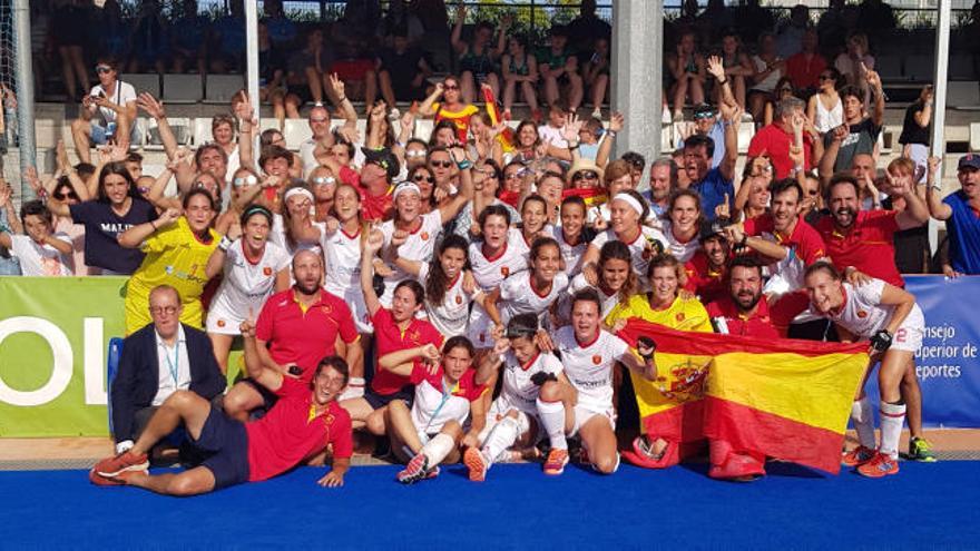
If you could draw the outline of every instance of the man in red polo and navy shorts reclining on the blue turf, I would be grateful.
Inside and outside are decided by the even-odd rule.
[[[242,334],[246,347],[255,345],[255,329],[249,322],[242,324]],[[347,384],[346,362],[337,356],[324,357],[310,386],[257,362],[246,362],[246,370],[280,397],[264,417],[242,423],[213,409],[200,396],[177,391],[160,405],[136,444],[96,463],[89,479],[98,485],[128,484],[168,495],[196,495],[271,479],[330,445],[333,468],[318,484],[343,485],[353,452],[351,417],[336,403]],[[182,473],[149,474],[146,452],[182,422],[195,445],[213,455],[200,466]]]

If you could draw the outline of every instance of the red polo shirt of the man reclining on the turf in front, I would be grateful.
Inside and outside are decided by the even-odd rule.
[[[354,452],[351,416],[336,401],[318,414],[310,385],[283,377],[280,400],[264,417],[245,424],[248,433],[248,480],[257,482],[288,471],[327,445],[333,459]]]

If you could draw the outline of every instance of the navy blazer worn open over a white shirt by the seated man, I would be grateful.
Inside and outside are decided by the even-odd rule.
[[[190,361],[190,391],[210,401],[224,392],[227,382],[215,360],[210,338],[200,329],[184,327],[187,358]],[[133,424],[137,410],[153,404],[160,384],[160,361],[157,354],[154,324],[137,331],[122,342],[119,370],[112,381],[112,432],[116,442],[134,440]]]

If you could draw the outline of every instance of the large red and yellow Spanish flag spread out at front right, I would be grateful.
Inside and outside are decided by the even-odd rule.
[[[633,346],[639,336],[657,343],[657,381],[633,376],[648,434],[724,440],[736,450],[840,471],[866,343],[686,333],[636,318],[619,336]],[[676,435],[661,432],[677,427]]]

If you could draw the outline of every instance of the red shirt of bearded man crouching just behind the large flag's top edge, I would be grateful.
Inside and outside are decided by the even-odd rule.
[[[708,316],[722,317],[728,326],[729,335],[748,335],[762,338],[785,338],[793,318],[810,306],[810,299],[802,291],[783,295],[772,307],[763,295],[755,312],[742,314],[731,296],[724,296],[706,306]]]

